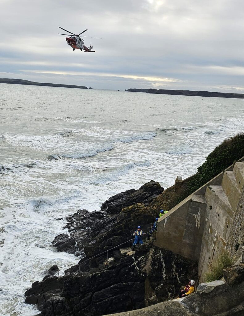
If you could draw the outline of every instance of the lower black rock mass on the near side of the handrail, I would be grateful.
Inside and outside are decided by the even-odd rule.
[[[46,290],[47,295],[55,289],[58,291],[58,285],[53,283],[55,281],[62,287],[60,295],[58,292],[44,302],[41,315],[98,316],[142,308],[145,299],[149,301],[145,297],[148,293],[145,291],[146,280],[150,284],[150,295],[155,297],[153,302],[164,301],[169,295],[173,296],[174,291],[178,292],[181,282],[186,283],[190,276],[194,277],[197,263],[156,248],[150,242],[140,246],[136,252],[124,253],[117,264],[93,269],[94,273],[90,269],[88,274],[82,275],[84,271],[81,269],[80,276],[66,275],[59,280],[50,277],[41,283],[44,295]],[[28,292],[28,295],[31,294]]]

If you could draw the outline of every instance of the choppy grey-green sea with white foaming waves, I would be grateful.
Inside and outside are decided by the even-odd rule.
[[[0,314],[36,314],[24,291],[78,261],[50,246],[57,218],[195,173],[242,131],[243,110],[239,99],[0,84]]]

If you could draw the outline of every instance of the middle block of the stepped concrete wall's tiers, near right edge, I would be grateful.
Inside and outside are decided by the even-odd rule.
[[[224,172],[221,185],[228,198],[229,204],[232,206],[232,210],[235,212],[241,196],[241,191],[237,185],[233,171]]]

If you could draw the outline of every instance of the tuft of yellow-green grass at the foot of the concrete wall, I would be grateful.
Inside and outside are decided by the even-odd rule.
[[[233,258],[228,252],[219,256],[215,264],[210,265],[210,270],[205,273],[205,282],[220,280],[223,276],[223,270],[233,265]]]

